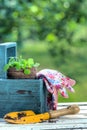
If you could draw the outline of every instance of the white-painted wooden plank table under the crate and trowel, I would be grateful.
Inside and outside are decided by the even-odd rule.
[[[87,130],[87,102],[60,103],[58,109],[78,104],[80,112],[76,115],[62,116],[43,123],[15,125],[0,119],[0,130]]]

